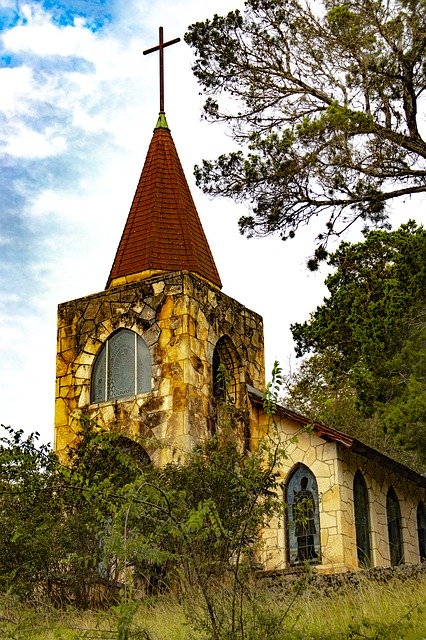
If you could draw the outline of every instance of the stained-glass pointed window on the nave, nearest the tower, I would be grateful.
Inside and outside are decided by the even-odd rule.
[[[321,559],[318,485],[314,474],[301,464],[290,475],[287,506],[287,550],[291,565]]]

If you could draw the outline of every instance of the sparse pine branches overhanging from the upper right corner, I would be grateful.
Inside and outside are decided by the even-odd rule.
[[[356,221],[386,227],[390,202],[426,191],[425,34],[425,0],[246,0],[191,25],[205,117],[249,149],[204,160],[198,185],[252,203],[248,236],[323,216],[311,268]]]

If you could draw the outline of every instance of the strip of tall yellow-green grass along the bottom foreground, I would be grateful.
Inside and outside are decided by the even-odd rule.
[[[361,581],[324,595],[291,598],[275,588],[255,590],[245,603],[246,640],[426,640],[426,577],[386,584]],[[226,617],[225,588],[216,594]],[[2,640],[207,640],[197,598],[149,598],[105,612],[55,610],[0,598]],[[198,628],[197,628],[198,627]],[[223,638],[226,625],[223,626]]]

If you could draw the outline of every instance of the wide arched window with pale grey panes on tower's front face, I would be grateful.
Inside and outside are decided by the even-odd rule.
[[[92,371],[91,402],[128,398],[151,390],[151,356],[134,331],[120,329],[102,349]]]

